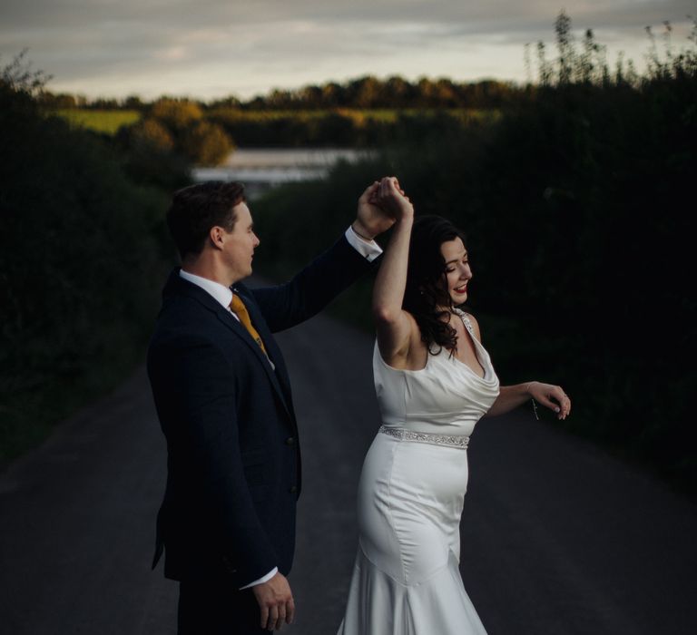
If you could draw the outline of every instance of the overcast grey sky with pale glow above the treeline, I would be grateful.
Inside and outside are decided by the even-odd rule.
[[[0,65],[28,48],[54,92],[248,98],[365,74],[525,81],[524,45],[554,41],[559,0],[0,0]],[[644,27],[690,44],[694,0],[565,6],[614,63],[643,66]]]

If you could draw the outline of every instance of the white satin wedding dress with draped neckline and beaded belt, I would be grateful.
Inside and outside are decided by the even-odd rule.
[[[458,569],[469,435],[498,378],[466,313],[478,376],[443,349],[421,370],[373,354],[383,425],[358,484],[358,555],[339,635],[486,635]]]

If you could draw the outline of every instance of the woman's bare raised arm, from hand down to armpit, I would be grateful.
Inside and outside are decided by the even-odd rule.
[[[396,222],[373,288],[373,318],[380,355],[390,366],[400,367],[407,360],[415,329],[418,333],[416,321],[402,309],[414,207],[395,177],[380,181],[375,202]]]

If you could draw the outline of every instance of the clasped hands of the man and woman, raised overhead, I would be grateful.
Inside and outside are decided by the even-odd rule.
[[[362,239],[372,240],[387,231],[398,220],[412,216],[414,207],[397,177],[387,176],[375,181],[358,199],[358,213],[351,225]]]

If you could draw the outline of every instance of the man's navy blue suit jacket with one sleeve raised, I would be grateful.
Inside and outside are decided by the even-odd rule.
[[[342,237],[286,284],[233,286],[275,370],[229,311],[179,269],[172,272],[148,349],[168,451],[152,566],[164,548],[166,577],[224,576],[241,587],[275,566],[290,571],[298,425],[271,334],[315,315],[369,268]]]

